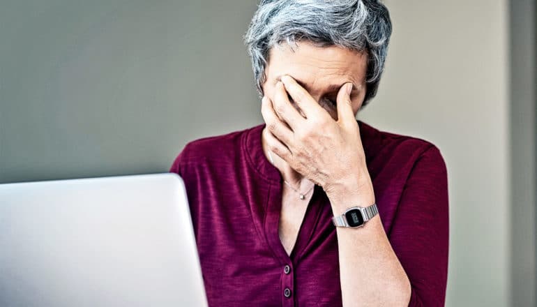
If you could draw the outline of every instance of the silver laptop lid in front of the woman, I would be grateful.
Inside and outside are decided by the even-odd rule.
[[[207,306],[181,178],[1,184],[0,306]]]

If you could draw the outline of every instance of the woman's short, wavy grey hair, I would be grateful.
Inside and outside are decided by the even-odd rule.
[[[388,9],[379,0],[261,0],[245,33],[257,90],[262,95],[269,50],[307,40],[368,52],[363,106],[375,97],[391,36]]]

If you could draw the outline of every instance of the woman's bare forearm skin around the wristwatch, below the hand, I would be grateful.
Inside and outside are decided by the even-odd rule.
[[[375,202],[372,189],[347,195],[337,200],[333,197],[335,215],[348,207],[367,207]],[[380,216],[363,227],[336,229],[343,306],[408,306],[410,281],[388,241]]]

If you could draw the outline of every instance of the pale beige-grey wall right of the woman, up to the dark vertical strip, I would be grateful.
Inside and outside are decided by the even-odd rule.
[[[434,142],[446,160],[447,306],[511,306],[508,1],[386,3],[386,75],[361,117]]]

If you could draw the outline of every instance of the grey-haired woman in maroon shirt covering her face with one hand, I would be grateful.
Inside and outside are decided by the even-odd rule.
[[[391,22],[375,0],[261,1],[245,36],[265,123],[186,145],[211,306],[444,306],[446,165],[358,110]]]

